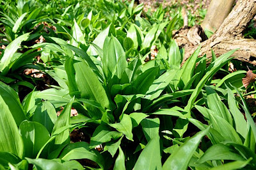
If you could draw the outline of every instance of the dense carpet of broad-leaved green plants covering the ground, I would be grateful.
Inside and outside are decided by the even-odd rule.
[[[0,4],[0,169],[255,169],[253,66],[182,62],[180,7]]]

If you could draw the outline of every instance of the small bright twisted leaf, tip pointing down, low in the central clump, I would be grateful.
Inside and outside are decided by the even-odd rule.
[[[128,116],[127,114],[123,114],[123,118],[120,123],[110,124],[109,126],[116,128],[116,130],[124,134],[127,139],[133,141],[132,121],[130,116]]]

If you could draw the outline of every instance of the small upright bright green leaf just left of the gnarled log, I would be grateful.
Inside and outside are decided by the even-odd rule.
[[[175,40],[172,40],[170,42],[170,48],[168,51],[168,61],[171,67],[173,66],[177,66],[177,68],[180,67],[180,63],[181,63],[180,50]],[[186,68],[186,70],[188,69]]]

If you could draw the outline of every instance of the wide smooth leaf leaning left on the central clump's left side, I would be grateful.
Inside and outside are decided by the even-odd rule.
[[[95,100],[103,108],[109,108],[106,91],[92,69],[83,60],[74,62],[74,68],[76,70],[77,88],[81,93],[81,98]]]

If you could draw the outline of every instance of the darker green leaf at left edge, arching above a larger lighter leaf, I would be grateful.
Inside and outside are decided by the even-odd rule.
[[[8,112],[12,114],[12,118],[14,118],[17,126],[19,126],[23,120],[26,120],[25,113],[22,109],[22,105],[20,104],[20,99],[16,91],[1,81],[0,97],[3,100],[2,102],[4,102],[3,104],[8,107]]]

